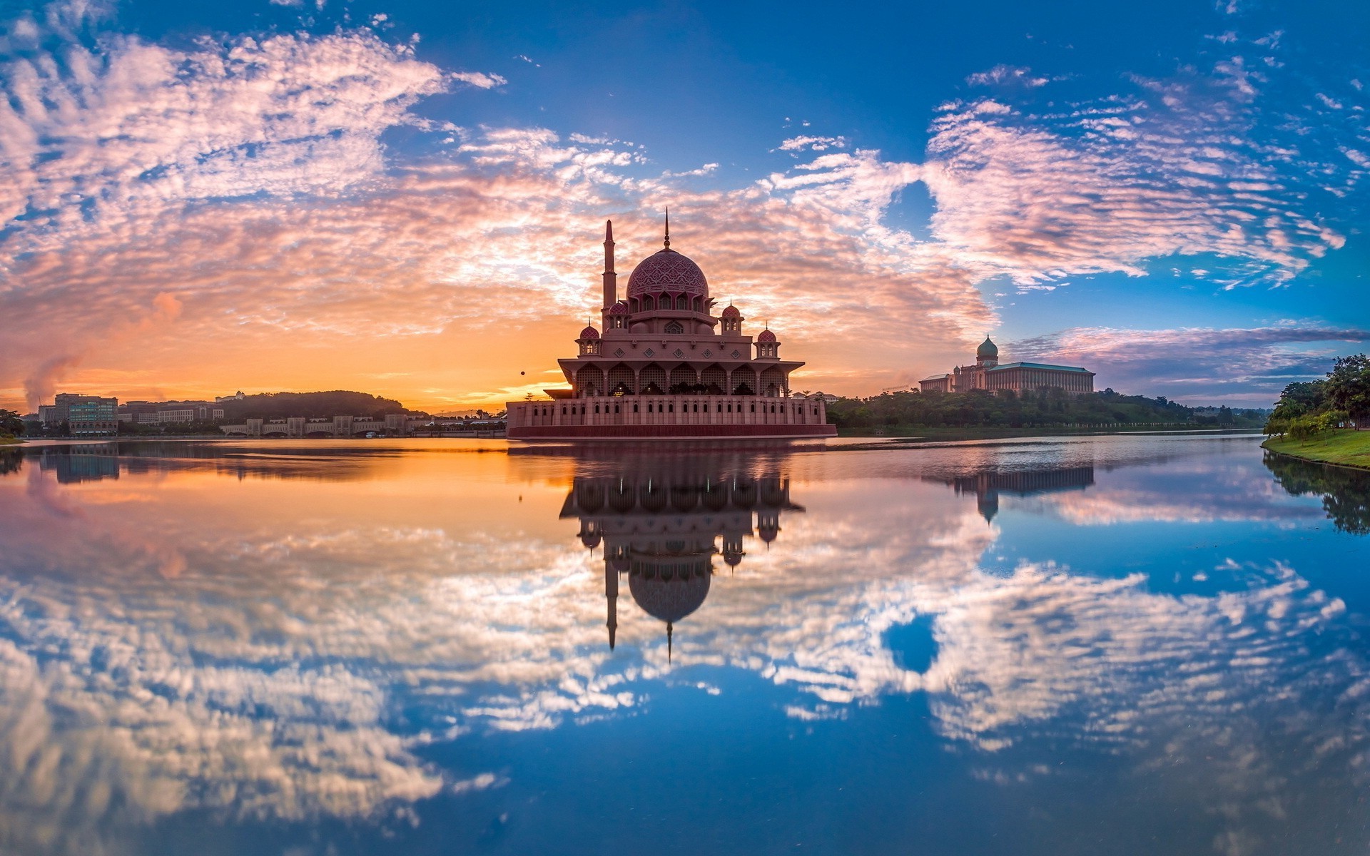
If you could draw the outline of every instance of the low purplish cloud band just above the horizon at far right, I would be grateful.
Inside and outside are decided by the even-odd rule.
[[[1006,352],[1015,360],[1088,366],[1099,375],[1096,388],[1266,407],[1286,383],[1326,374],[1341,344],[1366,341],[1370,330],[1308,322],[1252,329],[1073,327],[1012,342]]]

